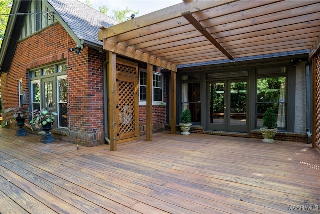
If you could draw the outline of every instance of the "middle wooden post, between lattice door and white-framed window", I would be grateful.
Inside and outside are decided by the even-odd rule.
[[[146,140],[152,141],[152,86],[153,66],[148,63],[146,67]]]

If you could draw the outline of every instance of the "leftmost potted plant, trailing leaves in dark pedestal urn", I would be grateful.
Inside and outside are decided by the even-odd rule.
[[[12,114],[12,118],[10,119],[10,123],[14,120],[16,121],[16,125],[19,126],[19,129],[16,131],[15,136],[26,136],[28,135],[26,130],[23,128],[25,119],[29,116],[29,110],[24,107],[10,107],[4,110],[4,114]],[[7,121],[2,121],[1,127],[7,125]]]

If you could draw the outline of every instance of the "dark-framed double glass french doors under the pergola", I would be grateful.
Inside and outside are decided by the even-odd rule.
[[[247,80],[208,82],[207,129],[248,132]]]

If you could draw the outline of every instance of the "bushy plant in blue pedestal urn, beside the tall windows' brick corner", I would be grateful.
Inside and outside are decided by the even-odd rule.
[[[32,128],[34,125],[36,128],[45,131],[45,134],[42,136],[42,143],[52,143],[55,142],[53,135],[49,132],[52,129],[52,123],[54,122],[54,116],[58,115],[56,112],[52,111],[53,108],[43,108],[43,109],[35,109],[31,112],[32,120],[28,126]]]

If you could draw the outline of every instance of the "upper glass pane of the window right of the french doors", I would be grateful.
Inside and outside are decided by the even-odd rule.
[[[285,77],[257,79],[257,102],[285,102]]]

